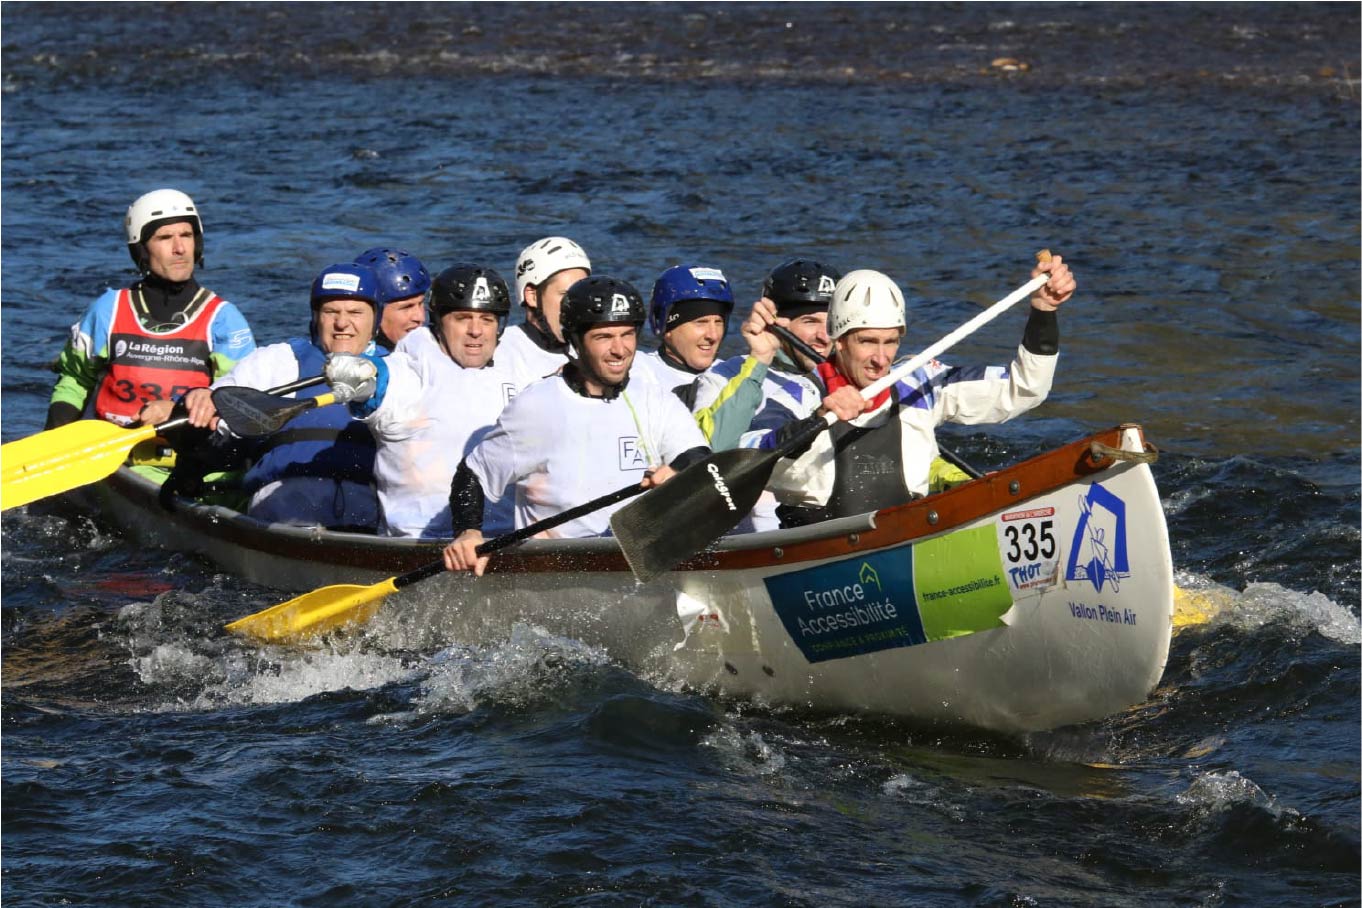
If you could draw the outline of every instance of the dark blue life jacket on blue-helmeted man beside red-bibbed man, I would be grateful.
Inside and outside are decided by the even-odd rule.
[[[289,347],[298,361],[300,376],[321,374],[327,355],[320,347],[305,338],[289,340]],[[298,391],[297,396],[316,398],[328,391],[326,385],[313,385]],[[245,489],[255,491],[287,476],[326,476],[368,485],[373,482],[375,453],[369,427],[353,418],[347,407],[315,407],[259,440]]]

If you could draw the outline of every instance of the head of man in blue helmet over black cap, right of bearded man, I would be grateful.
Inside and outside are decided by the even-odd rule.
[[[733,313],[733,289],[718,268],[673,265],[652,285],[648,325],[658,348],[639,355],[636,366],[681,398],[695,400],[696,376],[714,365]]]

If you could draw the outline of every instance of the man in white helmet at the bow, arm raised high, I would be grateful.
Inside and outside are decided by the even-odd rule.
[[[798,457],[783,459],[767,486],[785,508],[785,525],[846,517],[904,504],[928,494],[937,456],[936,427],[1005,422],[1045,400],[1058,359],[1056,310],[1077,286],[1060,256],[1032,276],[1050,282],[1031,297],[1031,314],[1009,366],[945,366],[932,362],[873,400],[865,388],[888,374],[906,331],[903,293],[878,271],[842,278],[828,308],[832,357],[814,378],[823,400],[779,427],[744,436],[749,448],[772,448],[819,425],[839,422]],[[760,422],[760,418],[757,419]]]

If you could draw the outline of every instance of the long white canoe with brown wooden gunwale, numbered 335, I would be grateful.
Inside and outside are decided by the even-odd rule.
[[[1102,719],[1144,701],[1169,653],[1155,456],[1117,426],[902,506],[727,538],[648,584],[613,539],[535,539],[481,579],[390,596],[366,633],[440,647],[541,628],[659,683],[767,705],[1002,732]],[[377,583],[440,550],[183,500],[166,512],[128,470],[93,490],[127,534],[279,591]]]

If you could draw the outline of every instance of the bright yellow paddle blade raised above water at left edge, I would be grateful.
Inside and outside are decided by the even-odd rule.
[[[124,429],[104,419],[78,419],[0,445],[0,510],[71,491],[113,474],[155,426]]]

